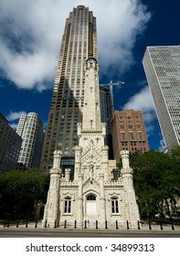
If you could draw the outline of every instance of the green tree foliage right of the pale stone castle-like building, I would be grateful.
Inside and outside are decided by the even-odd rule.
[[[180,197],[180,147],[169,153],[137,151],[130,154],[130,165],[141,215],[174,213]]]

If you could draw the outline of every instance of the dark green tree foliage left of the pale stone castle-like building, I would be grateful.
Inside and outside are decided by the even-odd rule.
[[[35,217],[37,205],[46,202],[48,176],[38,170],[0,174],[1,218]]]

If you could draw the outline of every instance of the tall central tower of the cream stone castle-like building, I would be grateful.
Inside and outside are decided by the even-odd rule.
[[[75,151],[75,180],[79,180],[79,221],[82,215],[90,218],[105,220],[105,194],[104,180],[108,180],[109,162],[108,146],[104,145],[106,125],[101,123],[100,92],[99,92],[99,67],[97,60],[90,57],[85,66],[85,94],[82,123],[78,124],[79,146]],[[86,189],[83,187],[86,183]],[[101,210],[97,208],[84,208],[83,195],[93,186],[99,186]],[[89,202],[87,202],[89,203]],[[92,204],[91,204],[92,205]],[[98,216],[99,215],[99,216]]]

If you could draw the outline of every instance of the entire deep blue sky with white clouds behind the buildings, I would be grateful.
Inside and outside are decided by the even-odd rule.
[[[142,60],[147,46],[180,44],[179,0],[1,0],[0,112],[12,126],[37,112],[46,126],[65,20],[77,5],[97,18],[100,83],[124,81],[113,88],[115,109],[142,110],[150,148],[158,149],[163,137]]]

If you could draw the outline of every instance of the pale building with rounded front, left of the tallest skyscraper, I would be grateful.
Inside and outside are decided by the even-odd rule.
[[[16,129],[23,143],[18,156],[18,168],[39,168],[44,141],[43,123],[35,112],[22,114]]]

